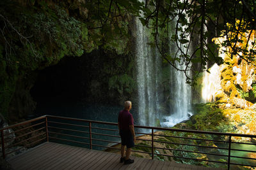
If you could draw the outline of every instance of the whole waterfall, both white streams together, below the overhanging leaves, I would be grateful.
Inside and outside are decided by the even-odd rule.
[[[172,127],[189,118],[191,87],[186,84],[183,72],[168,64],[163,66],[157,49],[147,44],[148,30],[138,18],[135,19],[135,25],[139,123],[147,126]],[[170,49],[173,52],[177,51],[177,47],[171,43]],[[179,67],[184,69],[185,66]],[[168,85],[164,86],[163,82],[167,82]]]

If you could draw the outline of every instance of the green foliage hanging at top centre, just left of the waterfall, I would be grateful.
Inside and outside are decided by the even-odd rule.
[[[90,28],[88,40],[93,45],[118,54],[129,52],[129,21],[133,16],[140,15],[143,3],[137,0],[103,0],[79,1],[72,5],[80,13],[86,13],[82,16],[83,22]]]

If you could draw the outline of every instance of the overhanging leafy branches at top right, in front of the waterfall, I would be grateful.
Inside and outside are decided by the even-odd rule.
[[[256,43],[253,38],[250,40],[255,30],[254,0],[243,1],[243,3],[233,0],[154,0],[147,1],[142,11],[141,23],[152,29],[153,42],[158,46],[166,62],[176,69],[180,69],[177,61],[187,66],[183,71],[194,70],[191,64],[195,64],[196,69],[200,66],[199,71],[206,70],[208,62],[223,64],[222,57],[218,56],[220,46],[211,41],[216,36],[227,38],[223,46],[232,49],[232,55],[243,53],[243,59],[249,62],[255,60]],[[164,43],[164,38],[168,37],[178,47],[175,52],[172,50],[171,54],[167,52],[166,43]],[[252,41],[253,48],[250,48],[252,50],[247,48],[250,41]],[[241,43],[244,45],[240,46]]]

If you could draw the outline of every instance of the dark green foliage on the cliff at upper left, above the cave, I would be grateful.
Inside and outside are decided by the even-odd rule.
[[[8,117],[17,80],[65,55],[82,55],[88,31],[65,10],[43,1],[33,8],[8,0],[0,5],[0,110]]]

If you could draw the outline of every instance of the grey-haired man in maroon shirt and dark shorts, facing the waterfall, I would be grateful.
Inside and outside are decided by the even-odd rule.
[[[122,141],[120,163],[124,162],[124,164],[132,164],[134,162],[134,160],[129,159],[129,156],[131,155],[131,149],[136,141],[133,117],[129,112],[131,108],[131,101],[125,101],[124,110],[120,111],[118,115],[118,129]],[[126,157],[124,157],[125,145],[127,148],[125,155]]]

